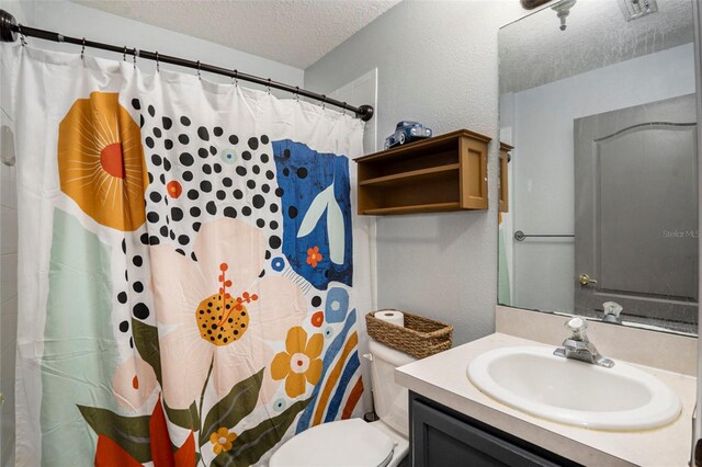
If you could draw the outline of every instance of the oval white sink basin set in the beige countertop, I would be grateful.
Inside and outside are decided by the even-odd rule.
[[[621,362],[604,368],[553,351],[496,349],[471,362],[468,378],[514,409],[588,429],[646,430],[680,414],[680,399],[655,376]]]

